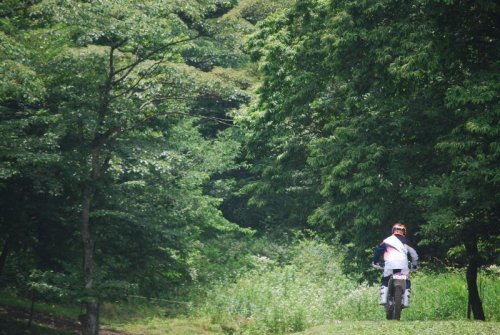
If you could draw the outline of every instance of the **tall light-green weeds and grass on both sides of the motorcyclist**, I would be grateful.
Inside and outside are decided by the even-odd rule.
[[[378,285],[359,285],[342,273],[339,252],[329,245],[304,241],[289,264],[256,258],[254,270],[208,295],[203,313],[227,333],[284,334],[333,320],[382,320]],[[496,274],[498,275],[498,273]],[[482,275],[480,285],[488,318],[500,319],[496,275]],[[411,308],[404,320],[464,319],[465,275],[416,273]]]

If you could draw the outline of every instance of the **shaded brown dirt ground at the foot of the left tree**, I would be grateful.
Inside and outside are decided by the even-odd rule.
[[[29,311],[12,306],[0,305],[0,319],[6,320],[29,320]],[[75,320],[63,318],[53,314],[35,312],[33,314],[33,322],[36,324],[41,324],[45,327],[72,332],[75,334],[81,333],[80,323]],[[129,335],[127,333],[106,329],[101,327],[99,330],[99,335]]]

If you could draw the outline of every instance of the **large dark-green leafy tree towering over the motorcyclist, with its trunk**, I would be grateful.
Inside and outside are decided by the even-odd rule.
[[[265,162],[255,194],[317,173],[309,222],[329,227],[358,271],[397,221],[422,245],[441,242],[429,253],[464,245],[478,319],[479,260],[493,261],[478,245],[492,244],[498,217],[497,16],[491,1],[297,1],[250,46],[263,76],[254,141],[273,143],[251,148]],[[297,142],[302,155],[285,145]]]

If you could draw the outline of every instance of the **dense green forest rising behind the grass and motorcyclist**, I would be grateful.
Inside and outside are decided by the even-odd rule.
[[[403,222],[497,320],[499,56],[494,0],[4,0],[0,289],[95,335],[268,262],[369,285]]]

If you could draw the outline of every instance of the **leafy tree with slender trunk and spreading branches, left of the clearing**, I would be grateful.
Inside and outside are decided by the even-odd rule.
[[[204,92],[235,101],[231,106],[246,99],[238,89],[184,60],[189,49],[212,43],[204,17],[215,17],[230,6],[223,1],[22,3],[22,15],[13,14],[22,17],[21,31],[14,38],[2,35],[13,50],[2,57],[12,59],[20,78],[2,87],[2,104],[19,104],[33,92],[29,97],[39,104],[30,108],[42,123],[30,133],[27,127],[17,127],[17,120],[12,126],[2,122],[2,127],[19,133],[19,143],[25,145],[32,134],[38,145],[23,152],[20,145],[2,148],[3,174],[9,183],[16,173],[39,182],[45,168],[43,172],[58,181],[54,198],[64,200],[58,214],[66,214],[65,223],[80,217],[84,334],[98,332],[98,292],[104,279],[127,278],[125,274],[134,269],[137,280],[144,270],[137,265],[143,264],[151,280],[141,288],[158,291],[165,278],[173,282],[185,277],[191,245],[202,231],[235,229],[217,210],[220,200],[205,196],[203,187],[211,174],[230,167],[238,147],[227,139],[223,142],[216,128],[210,130],[212,139],[205,140],[192,120],[185,120],[196,116],[221,121],[196,108]],[[36,50],[22,58],[30,65],[26,69],[26,64],[16,62],[23,46]],[[33,87],[18,84],[29,79]],[[220,113],[228,108],[232,107]],[[28,117],[20,122],[33,126]],[[50,164],[40,162],[42,145],[54,151]],[[28,149],[37,159],[26,156]],[[21,169],[20,159],[11,158],[18,153],[27,165],[36,166],[32,175]],[[19,191],[26,194],[25,189]],[[50,192],[55,191],[42,189],[44,195]],[[3,214],[2,224],[11,224]],[[129,257],[116,256],[115,263],[108,253],[124,248]],[[165,261],[158,263],[160,258]],[[112,271],[107,278],[106,270]]]

